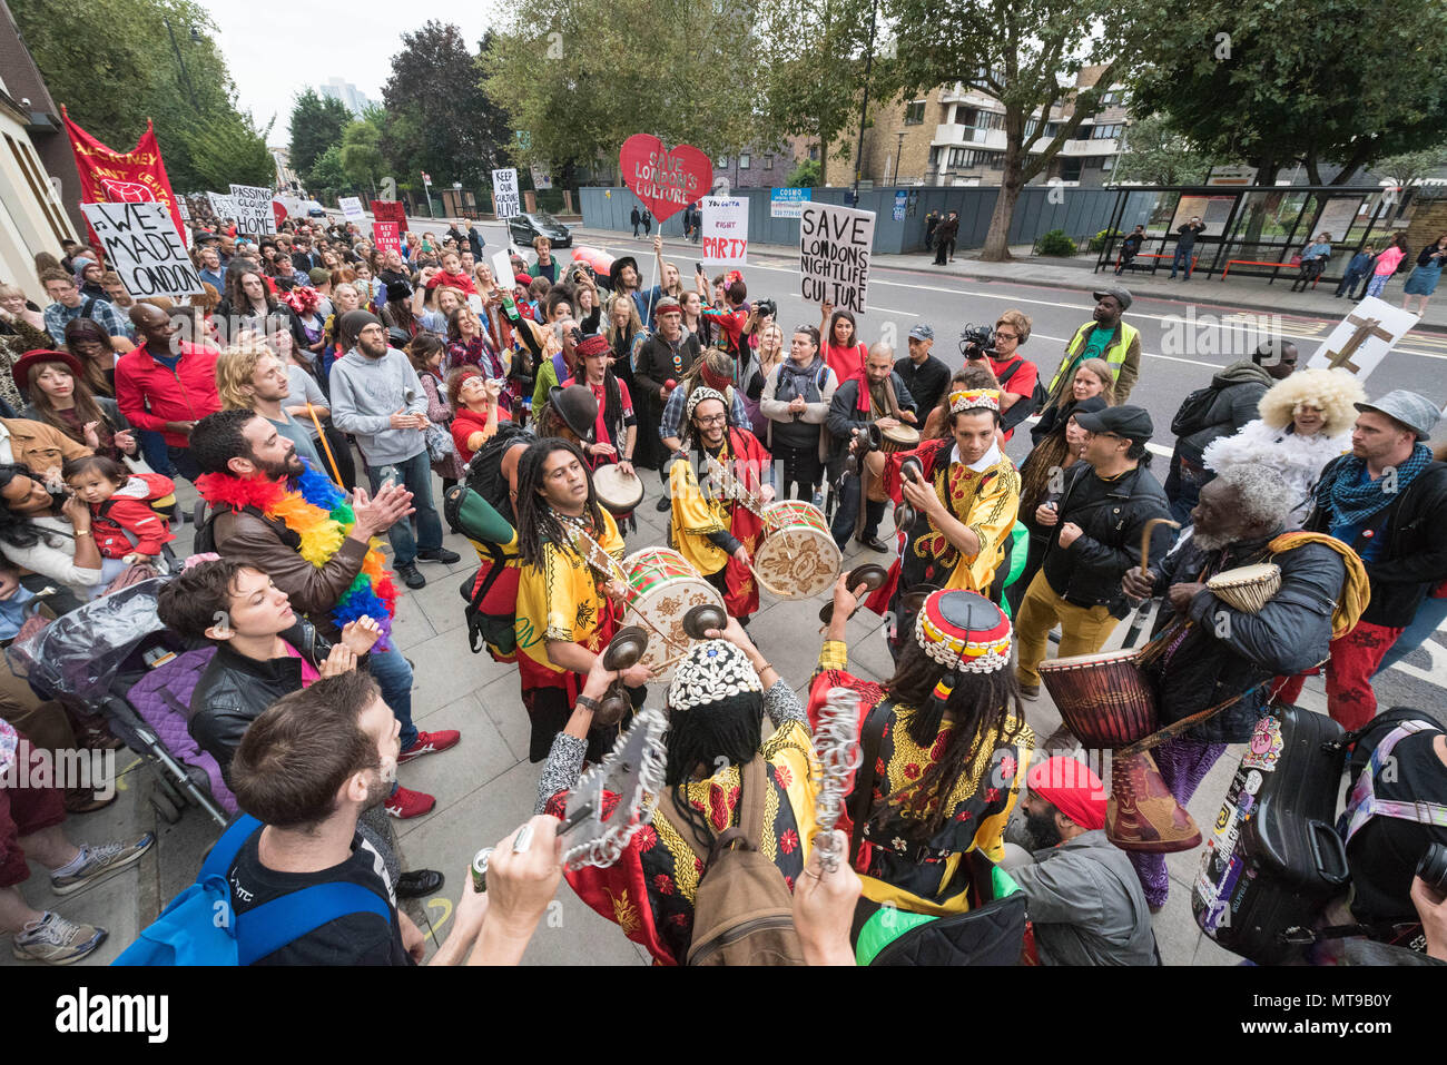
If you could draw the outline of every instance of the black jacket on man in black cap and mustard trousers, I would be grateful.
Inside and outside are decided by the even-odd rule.
[[[1120,579],[1140,564],[1140,530],[1150,518],[1168,518],[1171,509],[1160,482],[1145,466],[1101,480],[1088,463],[1077,463],[1065,475],[1059,499],[1059,521],[1051,527],[1045,548],[1045,579],[1056,595],[1075,606],[1108,606],[1124,618],[1126,592]],[[1072,521],[1081,535],[1061,547],[1061,525]],[[1150,554],[1165,557],[1172,541],[1169,525],[1150,532]]]

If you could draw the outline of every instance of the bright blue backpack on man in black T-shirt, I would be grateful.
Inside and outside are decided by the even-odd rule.
[[[262,826],[242,815],[211,848],[195,883],[171,900],[114,965],[250,965],[350,913],[375,913],[386,922],[392,910],[360,884],[314,884],[237,915],[226,880],[242,845]]]

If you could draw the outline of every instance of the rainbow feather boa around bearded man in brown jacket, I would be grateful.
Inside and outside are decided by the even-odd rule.
[[[311,467],[297,478],[297,491],[287,491],[285,480],[253,478],[242,480],[224,473],[203,473],[195,488],[213,506],[224,504],[233,509],[255,506],[268,518],[282,522],[301,537],[301,557],[318,569],[337,553],[356,524],[356,515],[346,493],[331,483],[326,473]],[[392,614],[396,609],[396,585],[382,564],[382,553],[368,547],[362,572],[331,608],[331,619],[341,628],[363,614],[382,627],[378,647],[391,645]]]

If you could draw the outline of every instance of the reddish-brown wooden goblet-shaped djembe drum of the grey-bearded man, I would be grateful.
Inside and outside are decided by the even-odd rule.
[[[1061,721],[1087,747],[1119,751],[1156,731],[1155,692],[1136,655],[1134,650],[1100,651],[1040,663],[1040,683]],[[1150,751],[1111,758],[1106,836],[1123,851],[1169,854],[1200,847],[1200,829],[1171,794]]]

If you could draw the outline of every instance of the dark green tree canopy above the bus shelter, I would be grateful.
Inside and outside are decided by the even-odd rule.
[[[1301,162],[1347,185],[1379,159],[1447,140],[1447,6],[1440,0],[1162,0],[1134,107],[1269,185]]]

